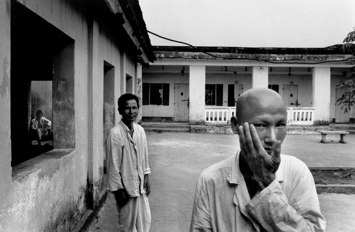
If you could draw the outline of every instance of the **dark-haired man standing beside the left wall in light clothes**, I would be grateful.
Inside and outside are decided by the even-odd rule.
[[[148,232],[151,225],[147,198],[151,171],[146,134],[134,123],[138,110],[136,95],[121,95],[118,112],[122,120],[110,129],[106,142],[108,190],[115,195],[120,232]]]

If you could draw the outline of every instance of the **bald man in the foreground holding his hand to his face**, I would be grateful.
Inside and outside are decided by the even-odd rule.
[[[190,231],[325,231],[310,170],[296,157],[280,155],[286,121],[275,91],[240,95],[231,127],[241,150],[202,172]]]

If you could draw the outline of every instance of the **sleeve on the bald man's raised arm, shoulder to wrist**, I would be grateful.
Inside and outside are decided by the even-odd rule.
[[[296,174],[292,187],[290,198],[287,199],[275,179],[255,195],[246,207],[269,232],[324,232],[326,220],[321,214],[316,187],[307,167]]]

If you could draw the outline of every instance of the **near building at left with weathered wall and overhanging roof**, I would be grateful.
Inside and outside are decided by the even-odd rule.
[[[117,99],[141,94],[155,59],[142,12],[128,0],[5,0],[0,18],[0,231],[71,231],[105,192]],[[53,143],[34,147],[38,109]]]

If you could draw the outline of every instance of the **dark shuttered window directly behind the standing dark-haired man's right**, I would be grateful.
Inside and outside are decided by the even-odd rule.
[[[169,105],[169,83],[143,83],[142,105]]]

